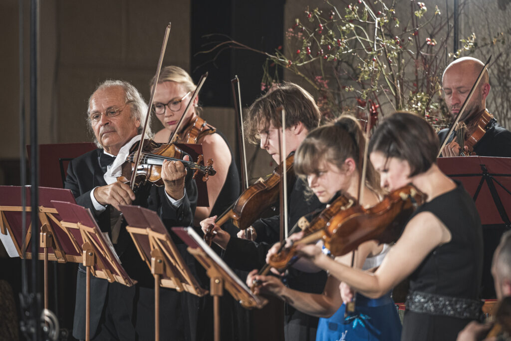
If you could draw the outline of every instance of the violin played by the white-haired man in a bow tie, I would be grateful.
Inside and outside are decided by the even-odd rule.
[[[138,149],[140,141],[137,141],[131,146],[130,154],[126,158],[126,162],[122,166],[122,175],[118,178],[122,183],[130,183],[132,178],[133,168],[135,165],[135,153]],[[134,177],[134,187],[149,183],[156,186],[163,186],[164,181],[161,179],[161,166],[164,160],[180,161],[187,169],[194,170],[193,178],[195,179],[198,173],[202,173],[202,181],[207,181],[210,175],[215,175],[216,171],[213,168],[213,160],[208,160],[206,165],[201,165],[203,162],[202,155],[199,155],[197,163],[191,161],[183,161],[183,152],[174,144],[157,143],[152,140],[146,139],[141,152],[140,163],[136,169]]]

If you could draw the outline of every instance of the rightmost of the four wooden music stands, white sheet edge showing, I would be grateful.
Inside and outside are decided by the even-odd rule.
[[[247,309],[262,308],[268,302],[254,295],[227,264],[202,240],[192,228],[172,228],[187,245],[190,252],[206,269],[210,278],[210,294],[213,296],[215,341],[220,341],[220,296],[227,289]]]

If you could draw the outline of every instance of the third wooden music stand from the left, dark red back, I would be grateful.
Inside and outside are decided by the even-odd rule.
[[[126,230],[154,276],[154,335],[158,341],[159,287],[188,291],[199,297],[207,290],[193,277],[156,212],[140,206],[121,205],[120,209],[128,222]]]

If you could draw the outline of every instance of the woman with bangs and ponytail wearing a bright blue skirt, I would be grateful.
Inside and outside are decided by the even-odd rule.
[[[330,202],[338,193],[357,200],[365,143],[359,123],[350,116],[342,116],[307,135],[295,154],[295,172],[307,179],[309,189],[323,203]],[[367,166],[361,204],[374,206],[380,201],[381,189],[374,168],[369,163]],[[268,257],[276,249],[273,247]],[[388,249],[388,245],[375,241],[365,242],[356,252],[354,266],[364,270],[375,268]],[[324,247],[323,252],[329,253]],[[336,257],[335,261],[350,266],[351,258],[349,254]],[[258,276],[256,272],[250,273],[247,282],[259,280],[260,292],[274,294],[298,310],[321,317],[317,341],[400,339],[401,322],[390,292],[378,299],[357,294],[355,311],[344,317],[343,301],[349,301],[353,293],[335,277],[328,277],[322,294],[313,294],[290,289],[276,277]]]

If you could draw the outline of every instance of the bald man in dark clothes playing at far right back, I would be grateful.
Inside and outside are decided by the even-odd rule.
[[[444,98],[453,118],[458,115],[483,67],[484,63],[472,57],[456,59],[446,67],[442,77],[442,85]],[[501,127],[497,120],[493,118],[493,115],[486,111],[486,98],[489,93],[489,75],[486,70],[459,120],[467,126],[464,140],[467,140],[476,130],[483,129],[482,131],[485,131],[485,133],[474,146],[475,154],[479,156],[511,157],[511,132]],[[484,117],[489,118],[487,120],[489,122],[484,121],[483,123],[481,119]],[[448,131],[449,129],[440,130],[438,133],[440,142],[444,141]],[[464,145],[462,148],[453,139],[442,150],[442,156],[459,156],[460,151],[468,152],[468,146]]]

